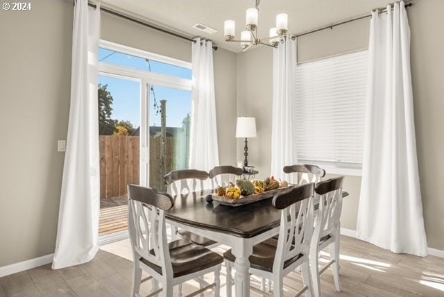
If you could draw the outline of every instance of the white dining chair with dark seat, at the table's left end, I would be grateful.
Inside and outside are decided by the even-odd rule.
[[[173,287],[188,280],[202,278],[214,273],[214,283],[195,292],[214,289],[219,296],[220,271],[223,257],[209,249],[178,239],[168,243],[164,212],[173,207],[173,198],[155,189],[128,185],[128,226],[134,255],[133,289],[131,296],[139,297],[140,285],[153,281],[153,292],[148,296],[162,294],[173,296]],[[142,269],[149,275],[142,280]],[[158,287],[159,283],[162,285]]]

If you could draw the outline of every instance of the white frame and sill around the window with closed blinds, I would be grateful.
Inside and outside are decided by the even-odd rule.
[[[352,54],[352,53],[364,52],[364,51],[368,52],[368,49],[358,49],[356,51],[348,51],[345,53],[339,53],[337,55],[326,56],[326,57],[318,58],[318,59],[314,59],[314,60],[307,60],[305,62],[298,63],[297,66],[305,65],[305,64],[311,63],[311,62],[318,62],[318,61],[326,60],[326,59],[330,59],[330,58],[345,56],[345,55]],[[295,81],[295,83],[296,83],[296,81]],[[297,102],[297,100],[298,99],[296,97],[296,102]],[[296,102],[295,102],[295,104],[297,104]],[[365,105],[365,103],[364,103],[364,105]],[[364,111],[364,114],[365,114],[365,111]],[[363,119],[363,121],[364,121],[364,125],[365,125],[365,119]],[[365,129],[365,127],[364,127],[364,129]],[[298,141],[297,133],[296,133],[295,138],[296,138],[296,143],[297,143],[297,141]],[[363,138],[364,138],[364,135],[363,135]],[[363,139],[363,142],[364,142],[364,139]],[[297,144],[295,144],[295,145],[297,145]],[[363,144],[363,146],[364,146],[364,144]],[[364,150],[364,147],[363,147],[363,150]],[[342,174],[342,175],[346,175],[346,176],[362,176],[362,162],[360,162],[360,163],[332,162],[332,161],[323,161],[323,160],[312,160],[309,158],[305,158],[305,159],[298,158],[298,162],[302,163],[302,164],[318,165],[319,167],[325,169],[325,171],[327,171],[327,173]]]

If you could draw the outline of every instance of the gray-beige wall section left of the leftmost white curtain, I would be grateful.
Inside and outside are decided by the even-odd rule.
[[[0,10],[0,266],[53,253],[71,80],[72,1]]]

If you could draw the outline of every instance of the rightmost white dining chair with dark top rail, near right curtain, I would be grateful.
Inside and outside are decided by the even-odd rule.
[[[319,201],[310,246],[310,269],[315,297],[321,296],[320,275],[329,266],[332,266],[334,287],[336,291],[341,291],[339,279],[341,221],[339,219],[342,211],[342,183],[343,176],[339,176],[316,184],[314,189],[314,196]],[[319,252],[327,246],[330,247],[330,262],[319,270]]]

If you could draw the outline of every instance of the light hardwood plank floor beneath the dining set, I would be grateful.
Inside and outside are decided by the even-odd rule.
[[[224,247],[215,251],[223,252]],[[133,264],[128,240],[103,246],[87,264],[53,271],[50,265],[0,278],[4,296],[129,296]],[[322,262],[322,261],[321,261]],[[225,296],[225,268],[221,273],[221,296]],[[211,277],[209,277],[209,281]],[[350,237],[341,237],[341,282],[334,291],[330,269],[321,277],[323,296],[444,296],[444,259],[397,255]],[[253,285],[259,280],[252,278]],[[148,294],[151,283],[142,285]],[[300,274],[284,278],[285,296],[302,287]],[[188,282],[184,293],[198,288]],[[207,291],[205,296],[213,296]],[[259,296],[251,293],[251,296]]]

